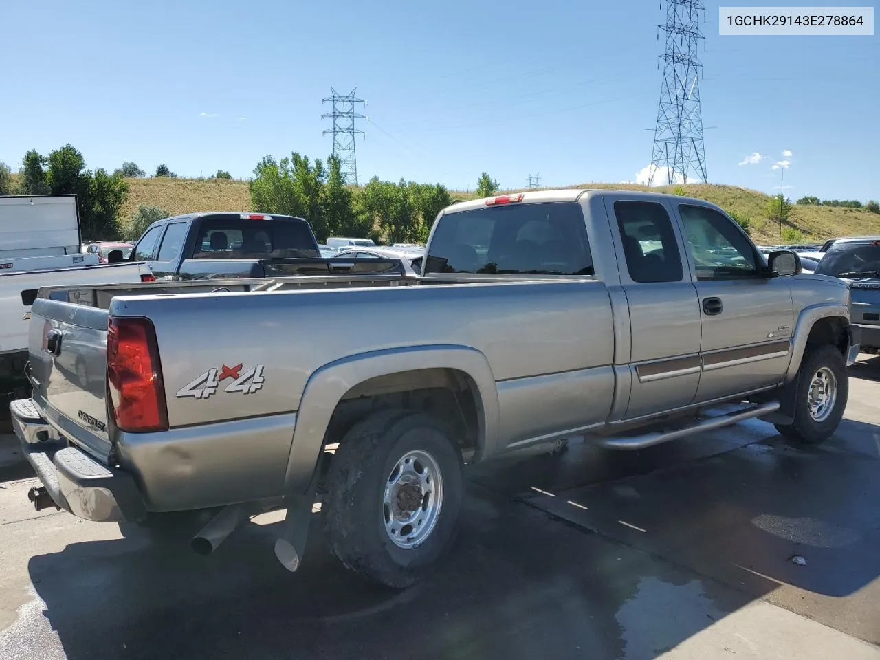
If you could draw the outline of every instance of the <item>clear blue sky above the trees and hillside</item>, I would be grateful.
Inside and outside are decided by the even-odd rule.
[[[791,197],[880,198],[880,36],[721,37],[706,6],[710,182],[778,192],[788,161]],[[0,160],[70,142],[90,168],[248,177],[266,154],[326,158],[334,86],[369,101],[362,182],[636,180],[664,17],[656,0],[7,2]]]

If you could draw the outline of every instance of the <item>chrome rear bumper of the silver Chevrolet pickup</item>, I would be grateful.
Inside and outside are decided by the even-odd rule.
[[[43,419],[33,400],[14,400],[9,408],[12,429],[27,462],[60,508],[96,522],[146,517],[143,497],[130,474],[104,466],[70,446]]]

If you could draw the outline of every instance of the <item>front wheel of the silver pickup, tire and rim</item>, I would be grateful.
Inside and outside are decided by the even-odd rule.
[[[776,424],[783,436],[803,444],[827,440],[843,418],[849,397],[847,363],[829,345],[808,348],[797,372],[795,419]]]

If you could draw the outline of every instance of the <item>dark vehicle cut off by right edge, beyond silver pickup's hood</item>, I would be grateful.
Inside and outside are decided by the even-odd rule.
[[[862,329],[862,351],[880,353],[880,236],[835,239],[815,272],[847,283],[852,322]]]

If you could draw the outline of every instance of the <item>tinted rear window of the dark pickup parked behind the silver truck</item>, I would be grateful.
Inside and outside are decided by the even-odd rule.
[[[319,259],[320,254],[304,221],[208,216],[199,225],[193,258]]]

